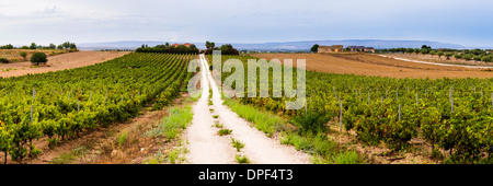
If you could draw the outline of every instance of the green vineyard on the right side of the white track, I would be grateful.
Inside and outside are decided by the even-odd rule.
[[[246,62],[253,57],[222,56],[222,61],[231,58]],[[229,74],[223,72],[222,81]],[[411,139],[422,138],[433,147],[432,158],[446,152],[449,163],[492,163],[493,79],[392,79],[312,71],[307,71],[306,79],[308,106],[303,109],[285,109],[289,100],[285,97],[248,97],[245,92],[237,100],[293,118],[328,118],[300,129],[322,132],[318,128],[331,121],[355,130],[357,139],[368,144],[385,142],[399,151]]]

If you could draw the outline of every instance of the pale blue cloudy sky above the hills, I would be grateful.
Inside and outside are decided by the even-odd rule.
[[[0,0],[0,45],[324,39],[493,47],[493,1]]]

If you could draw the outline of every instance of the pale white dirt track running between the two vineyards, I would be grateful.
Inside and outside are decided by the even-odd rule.
[[[194,105],[193,123],[186,131],[190,163],[245,163],[242,158],[249,163],[260,164],[310,163],[308,154],[266,137],[225,106],[204,55],[200,55],[200,65],[204,69],[200,72],[202,97]],[[208,104],[209,92],[213,95]],[[222,136],[218,132],[220,130],[230,132]],[[241,150],[234,149],[231,139],[243,144]]]

